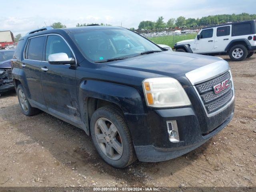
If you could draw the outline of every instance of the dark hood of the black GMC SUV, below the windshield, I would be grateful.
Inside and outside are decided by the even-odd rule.
[[[190,81],[186,78],[186,73],[219,61],[226,62],[214,56],[163,51],[118,62],[109,62],[107,65],[158,74],[159,76],[169,76],[176,78],[182,85],[191,86]]]

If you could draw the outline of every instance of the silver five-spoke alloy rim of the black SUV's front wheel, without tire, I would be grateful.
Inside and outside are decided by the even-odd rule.
[[[123,146],[116,126],[107,118],[99,118],[94,126],[96,142],[102,152],[112,160],[122,157]]]

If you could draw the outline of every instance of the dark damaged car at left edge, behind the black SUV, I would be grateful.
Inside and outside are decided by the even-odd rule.
[[[0,93],[14,89],[11,59],[14,50],[0,50]]]

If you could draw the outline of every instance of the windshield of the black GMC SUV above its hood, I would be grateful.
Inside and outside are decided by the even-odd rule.
[[[88,30],[71,34],[78,48],[93,62],[130,58],[145,51],[161,49],[142,36],[126,29]]]

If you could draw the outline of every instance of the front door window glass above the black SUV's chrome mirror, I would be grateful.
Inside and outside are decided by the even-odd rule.
[[[46,42],[45,60],[48,61],[50,54],[66,53],[69,58],[74,57],[66,42],[57,35],[49,35]]]

